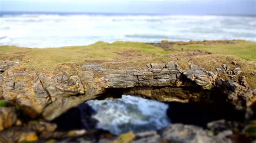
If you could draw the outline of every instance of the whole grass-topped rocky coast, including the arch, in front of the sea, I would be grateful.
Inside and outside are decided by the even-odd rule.
[[[85,101],[117,93],[160,102],[227,104],[245,115],[250,114],[249,110],[252,112],[239,123],[241,130],[226,126],[228,133],[224,137],[218,134],[226,130],[209,135],[207,130],[211,128],[173,124],[150,133],[150,137],[157,136],[160,140],[175,138],[164,135],[174,130],[173,126],[184,132],[192,128],[204,141],[228,140],[229,135],[237,134],[251,139],[255,134],[245,130],[254,127],[250,123],[254,120],[256,101],[255,42],[163,40],[150,44],[122,41],[109,44],[99,41],[88,46],[43,49],[0,46],[0,52],[0,99],[3,106],[8,106],[1,107],[0,114],[10,116],[0,118],[3,124],[0,139],[23,129],[24,133],[31,133],[31,138],[25,141],[81,137],[86,134],[84,131],[60,133],[51,120]],[[44,130],[39,130],[42,126]],[[122,135],[110,136],[111,141],[124,139]],[[130,138],[130,142],[146,138],[131,132],[123,136]],[[22,138],[20,135],[16,141]]]

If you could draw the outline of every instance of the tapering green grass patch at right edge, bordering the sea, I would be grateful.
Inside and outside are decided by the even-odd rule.
[[[213,54],[234,55],[243,60],[256,61],[256,42],[237,40],[235,44],[191,44],[174,45],[171,49],[200,49]]]

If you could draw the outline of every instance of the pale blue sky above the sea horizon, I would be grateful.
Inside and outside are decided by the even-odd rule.
[[[256,0],[0,0],[0,11],[256,15]]]

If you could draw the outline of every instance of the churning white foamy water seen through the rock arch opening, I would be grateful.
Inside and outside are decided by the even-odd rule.
[[[93,116],[99,121],[97,127],[113,134],[157,130],[170,124],[168,105],[150,99],[123,95],[120,99],[87,103],[97,111]]]

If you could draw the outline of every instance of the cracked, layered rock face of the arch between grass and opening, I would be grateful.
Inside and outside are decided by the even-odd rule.
[[[158,101],[213,102],[221,96],[238,108],[249,106],[254,99],[244,77],[224,81],[212,71],[193,64],[184,70],[173,61],[117,69],[85,63],[58,74],[5,69],[0,75],[5,101],[18,104],[32,117],[42,115],[47,120],[114,89]]]

